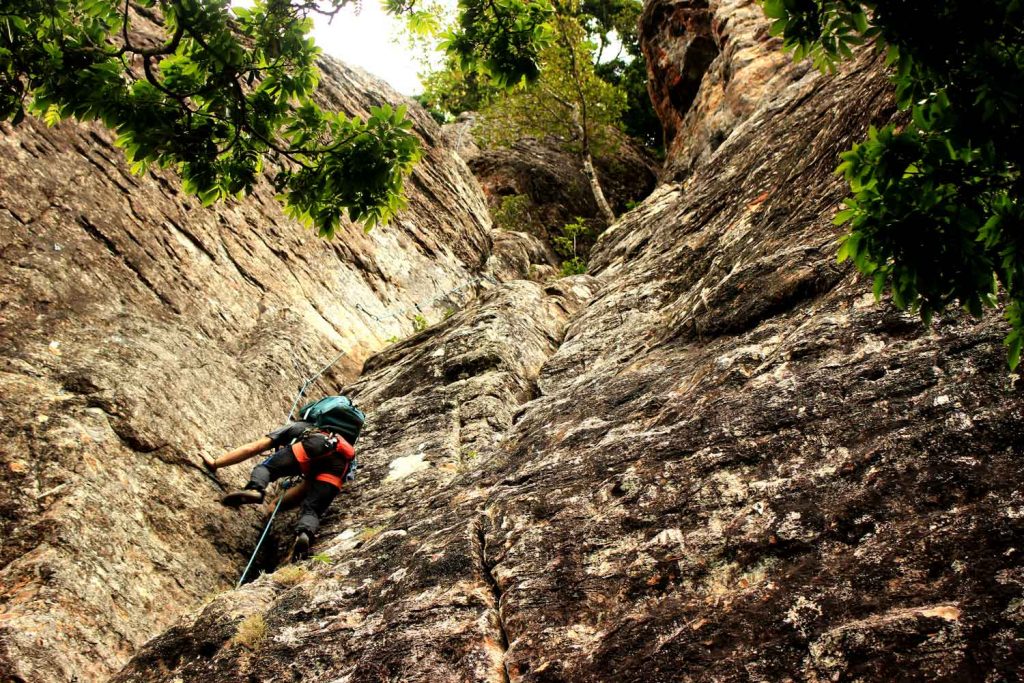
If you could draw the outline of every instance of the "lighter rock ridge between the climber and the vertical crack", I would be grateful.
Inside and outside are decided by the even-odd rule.
[[[307,564],[298,585],[286,568],[218,597],[115,680],[503,680],[479,466],[594,286],[505,284],[374,356],[349,388],[373,419],[359,438],[361,481],[342,492],[316,547],[326,561]],[[243,618],[269,637],[240,642]]]

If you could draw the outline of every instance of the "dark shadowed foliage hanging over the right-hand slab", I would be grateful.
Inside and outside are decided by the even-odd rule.
[[[765,0],[772,33],[824,70],[873,41],[892,67],[905,125],[871,128],[843,155],[836,217],[850,259],[926,324],[958,303],[1008,300],[1015,369],[1024,345],[1024,4]]]

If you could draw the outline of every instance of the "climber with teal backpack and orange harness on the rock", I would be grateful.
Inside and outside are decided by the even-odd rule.
[[[237,508],[264,502],[267,485],[283,477],[302,475],[302,483],[283,494],[282,508],[294,507],[301,500],[299,521],[290,557],[301,559],[309,552],[321,517],[327,512],[346,478],[354,472],[355,450],[365,416],[345,396],[327,396],[299,410],[300,419],[275,429],[263,438],[251,441],[212,459],[203,456],[207,469],[216,472],[273,449],[273,455],[257,465],[249,483],[221,499],[221,504]],[[273,509],[276,500],[267,504]]]

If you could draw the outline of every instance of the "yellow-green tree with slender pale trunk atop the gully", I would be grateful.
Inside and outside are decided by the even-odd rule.
[[[620,145],[627,130],[656,145],[658,124],[647,96],[636,0],[461,0],[444,34],[449,59],[425,79],[421,101],[442,117],[480,113],[487,145],[522,137],[555,140],[575,154],[602,220],[614,220],[593,157]],[[606,50],[621,41],[618,54]],[[625,51],[625,55],[624,55]]]

